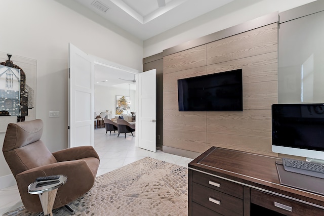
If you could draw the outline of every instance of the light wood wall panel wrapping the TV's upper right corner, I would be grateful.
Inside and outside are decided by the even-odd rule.
[[[243,83],[278,80],[277,52],[207,65],[206,74],[242,69]]]

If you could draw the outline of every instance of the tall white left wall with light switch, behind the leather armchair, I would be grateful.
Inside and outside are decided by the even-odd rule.
[[[68,43],[142,71],[142,41],[116,31],[116,26],[109,30],[54,0],[1,1],[1,8],[0,51],[37,60],[36,118],[44,121],[42,140],[52,152],[67,148]],[[60,117],[49,118],[50,110],[60,111]],[[2,149],[3,136],[0,145]],[[3,154],[0,162],[2,185],[1,177],[11,171]]]

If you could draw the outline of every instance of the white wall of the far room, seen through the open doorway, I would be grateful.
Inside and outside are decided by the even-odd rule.
[[[113,117],[116,116],[116,95],[131,97],[131,112],[135,112],[135,91],[128,89],[105,87],[103,85],[95,85],[95,112],[99,115],[100,112],[106,110],[112,111]]]

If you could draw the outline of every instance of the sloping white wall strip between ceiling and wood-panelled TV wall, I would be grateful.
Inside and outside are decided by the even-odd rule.
[[[184,42],[273,13],[283,12],[315,0],[235,0],[144,41],[144,58]]]

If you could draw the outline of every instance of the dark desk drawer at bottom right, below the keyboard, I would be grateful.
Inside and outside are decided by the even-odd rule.
[[[274,210],[287,216],[318,216],[324,214],[324,209],[261,192],[255,189],[251,189],[251,203]]]

